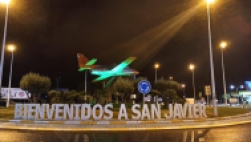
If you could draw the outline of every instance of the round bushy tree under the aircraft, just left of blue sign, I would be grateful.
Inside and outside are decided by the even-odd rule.
[[[133,82],[128,79],[123,79],[122,77],[119,77],[114,82],[112,88],[115,92],[118,92],[121,95],[121,98],[125,103],[134,91]]]

